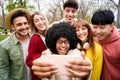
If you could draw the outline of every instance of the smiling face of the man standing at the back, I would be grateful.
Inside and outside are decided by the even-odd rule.
[[[72,8],[72,7],[66,7],[63,10],[65,22],[70,23],[70,24],[74,23],[76,14],[77,14],[77,10],[75,8]]]

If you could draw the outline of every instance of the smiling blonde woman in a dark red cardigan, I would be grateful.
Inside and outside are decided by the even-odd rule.
[[[48,27],[48,21],[43,14],[34,12],[30,17],[30,23],[32,36],[30,39],[26,64],[31,68],[33,60],[40,57],[42,51],[46,49],[45,33]],[[32,72],[32,80],[40,79]]]

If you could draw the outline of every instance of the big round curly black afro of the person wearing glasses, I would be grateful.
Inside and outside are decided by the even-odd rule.
[[[58,54],[56,50],[56,42],[60,37],[65,37],[70,42],[70,48],[74,49],[77,45],[77,36],[75,29],[72,25],[65,22],[53,24],[46,32],[45,42],[47,47],[55,54]]]

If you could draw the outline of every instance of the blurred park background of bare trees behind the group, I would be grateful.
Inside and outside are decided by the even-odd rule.
[[[62,19],[62,5],[66,0],[0,0],[0,41],[11,33],[5,26],[5,17],[14,8],[23,7],[31,13],[40,11],[49,23]],[[92,14],[98,9],[110,9],[115,15],[115,24],[120,28],[120,0],[76,0],[79,3],[77,18],[90,22]]]

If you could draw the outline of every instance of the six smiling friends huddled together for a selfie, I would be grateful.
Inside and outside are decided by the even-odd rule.
[[[63,5],[63,19],[49,25],[45,15],[13,9],[5,24],[14,32],[0,42],[0,80],[120,80],[120,33],[111,10],[98,10],[91,18],[77,19],[78,3]],[[69,75],[42,55],[78,55],[65,65]],[[58,62],[59,63],[59,62]]]

